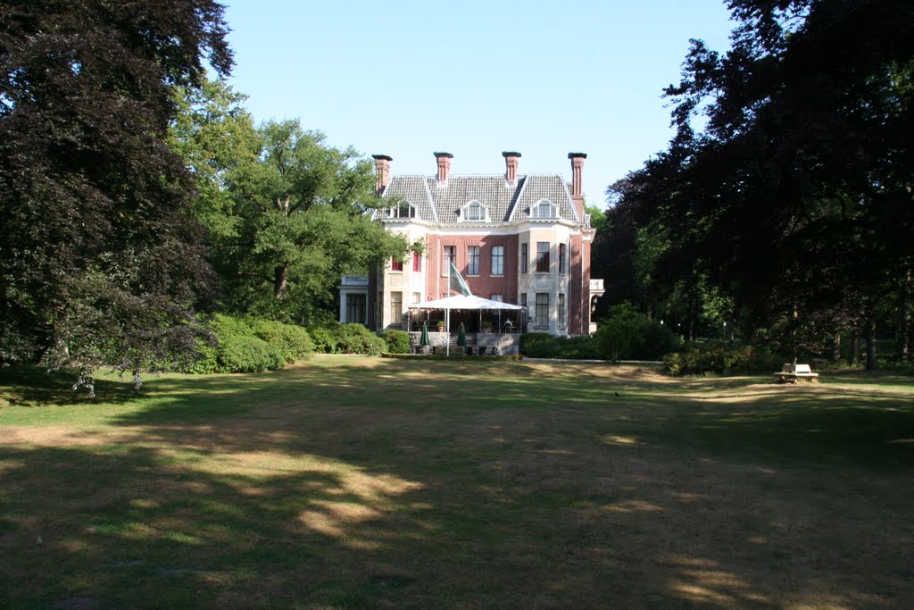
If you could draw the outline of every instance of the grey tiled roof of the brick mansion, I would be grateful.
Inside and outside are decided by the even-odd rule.
[[[564,179],[558,174],[518,176],[514,187],[505,177],[448,177],[444,186],[435,176],[392,176],[384,197],[400,195],[416,208],[416,218],[441,224],[477,224],[460,222],[458,211],[471,201],[488,208],[490,224],[526,219],[528,210],[542,199],[558,206],[558,216],[580,222]]]

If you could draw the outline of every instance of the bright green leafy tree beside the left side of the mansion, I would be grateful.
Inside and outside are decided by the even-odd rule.
[[[402,257],[408,244],[371,220],[388,204],[370,160],[297,120],[255,127],[243,101],[207,83],[181,98],[172,131],[197,177],[224,305],[297,323],[333,317],[341,275]]]

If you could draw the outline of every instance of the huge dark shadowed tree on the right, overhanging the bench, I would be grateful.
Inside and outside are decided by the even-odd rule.
[[[872,334],[914,260],[914,7],[729,7],[732,48],[694,41],[666,90],[675,138],[629,177],[626,203],[671,241],[655,278],[707,277],[783,345]]]

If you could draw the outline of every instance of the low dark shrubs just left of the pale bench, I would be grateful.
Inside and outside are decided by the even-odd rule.
[[[664,356],[664,368],[672,375],[771,373],[780,370],[783,362],[784,357],[769,348],[730,347],[721,342],[690,343]]]

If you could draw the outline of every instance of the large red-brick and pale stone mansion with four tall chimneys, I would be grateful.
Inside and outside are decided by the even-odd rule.
[[[449,261],[473,294],[526,307],[515,330],[556,336],[593,332],[602,280],[590,278],[595,230],[584,210],[587,155],[571,153],[571,182],[560,174],[521,175],[520,153],[502,153],[505,173],[452,175],[450,153],[435,153],[434,176],[391,175],[391,157],[374,155],[377,190],[390,201],[375,219],[420,243],[403,262],[367,278],[345,276],[340,321],[406,329],[410,305],[448,295]]]

